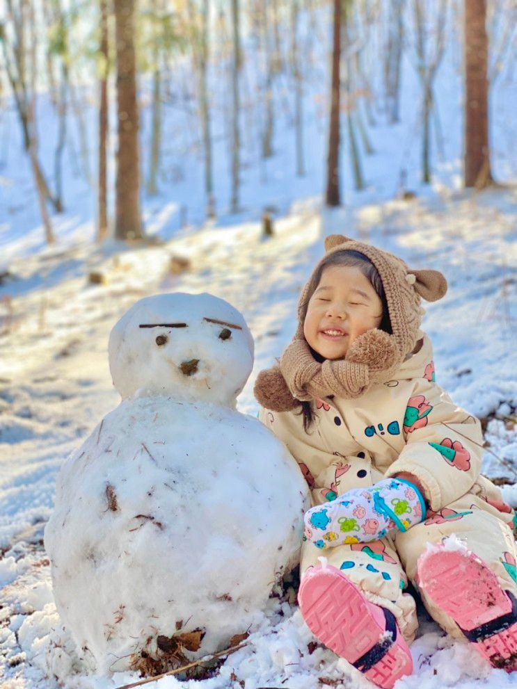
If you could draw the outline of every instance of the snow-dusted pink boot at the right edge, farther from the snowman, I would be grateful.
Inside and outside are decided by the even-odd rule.
[[[517,670],[517,601],[470,551],[422,553],[418,583],[493,667]]]

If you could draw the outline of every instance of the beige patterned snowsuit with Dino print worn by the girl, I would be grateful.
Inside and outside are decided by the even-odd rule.
[[[359,543],[353,530],[349,544],[324,551],[305,541],[302,576],[318,564],[318,558],[326,558],[369,600],[392,610],[411,642],[417,617],[415,601],[404,593],[407,578],[417,586],[417,560],[427,544],[456,534],[517,597],[514,510],[504,503],[500,489],[480,475],[480,423],[456,407],[434,382],[427,336],[393,380],[357,399],[318,400],[313,410],[315,419],[308,432],[299,410],[260,412],[261,421],[299,462],[312,489],[313,505],[404,471],[420,480],[430,509],[421,524],[380,541]],[[455,636],[461,634],[450,617],[422,598],[436,622]]]

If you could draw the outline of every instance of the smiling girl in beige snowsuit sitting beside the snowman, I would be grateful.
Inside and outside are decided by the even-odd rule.
[[[301,613],[312,633],[378,686],[413,664],[415,601],[494,667],[517,669],[514,511],[479,469],[474,416],[435,382],[420,300],[436,270],[328,237],[299,302],[299,328],[262,371],[262,421],[312,489]]]

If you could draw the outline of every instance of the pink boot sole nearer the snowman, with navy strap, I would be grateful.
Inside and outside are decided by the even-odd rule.
[[[309,569],[298,602],[303,619],[317,639],[377,686],[391,689],[413,672],[413,660],[395,616],[370,603],[340,569]]]

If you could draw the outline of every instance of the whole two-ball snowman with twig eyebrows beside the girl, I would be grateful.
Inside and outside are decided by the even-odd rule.
[[[90,670],[166,670],[260,623],[299,556],[307,487],[236,411],[253,338],[228,302],[142,299],[109,364],[122,401],[63,464],[45,529],[54,598]]]

